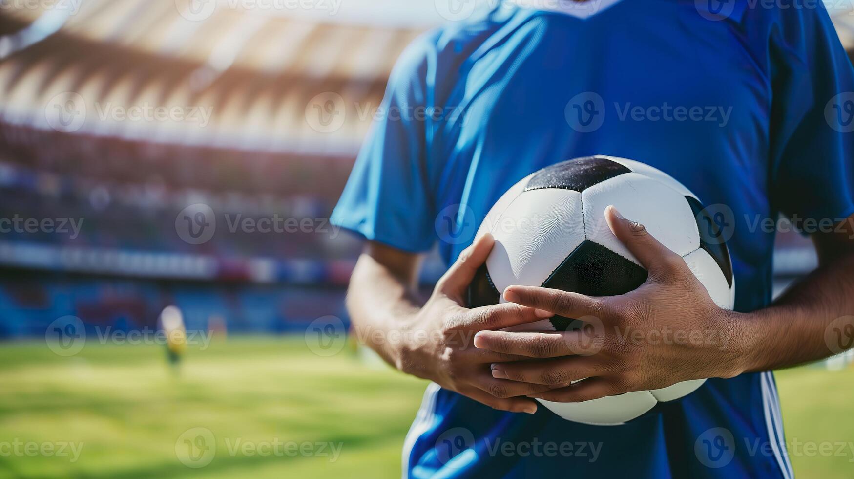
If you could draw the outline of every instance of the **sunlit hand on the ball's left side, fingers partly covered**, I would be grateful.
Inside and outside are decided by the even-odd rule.
[[[407,321],[411,333],[407,337],[420,340],[401,345],[397,367],[494,409],[533,414],[536,402],[525,395],[542,393],[553,387],[495,379],[490,370],[493,363],[530,358],[488,352],[473,344],[477,331],[506,328],[552,316],[511,303],[475,309],[465,307],[465,292],[493,245],[491,234],[477,238],[436,283],[430,299],[415,313],[412,321]]]

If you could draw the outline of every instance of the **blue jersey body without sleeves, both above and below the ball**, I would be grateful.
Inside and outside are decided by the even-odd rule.
[[[748,41],[738,15],[709,21],[696,4],[623,0],[586,20],[517,12],[478,37],[453,70],[439,71],[434,99],[444,116],[427,128],[426,157],[437,222],[465,213],[440,242],[448,260],[525,175],[604,154],[648,163],[706,205],[725,205],[717,217],[732,234],[736,308],[769,300],[774,234],[755,223],[773,214],[769,66],[752,51],[762,42]],[[455,49],[453,41],[447,48]],[[775,404],[766,373],[712,379],[609,428],[556,420],[548,411],[494,411],[431,387],[404,467],[412,476],[779,477],[782,459],[773,455],[700,464],[717,457],[702,446],[722,424],[748,442],[781,436]]]

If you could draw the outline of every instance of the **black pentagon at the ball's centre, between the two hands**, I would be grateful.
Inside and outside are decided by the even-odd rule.
[[[542,286],[589,296],[613,296],[637,289],[646,281],[646,276],[646,269],[587,240],[560,263]],[[577,320],[564,316],[554,316],[551,321],[559,331],[579,325]]]

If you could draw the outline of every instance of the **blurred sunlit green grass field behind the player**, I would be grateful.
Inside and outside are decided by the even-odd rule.
[[[44,342],[5,343],[0,364],[0,477],[400,476],[401,443],[424,390],[424,381],[366,366],[349,350],[316,356],[301,338],[214,340],[187,353],[179,377],[157,345],[87,344],[61,358]],[[778,381],[789,441],[854,441],[854,369],[800,368]],[[194,469],[179,456],[190,458],[182,435],[199,427],[216,453]],[[284,455],[237,446],[276,439]],[[12,441],[25,453],[9,453]],[[78,460],[70,446],[67,457],[26,454],[26,443],[62,441],[82,443]],[[340,445],[335,460],[319,442]],[[849,449],[805,451],[792,458],[798,477],[854,476]]]

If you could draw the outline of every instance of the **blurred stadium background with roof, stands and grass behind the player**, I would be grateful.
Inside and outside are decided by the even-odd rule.
[[[0,477],[400,475],[426,381],[348,336],[362,241],[330,215],[397,58],[453,19],[311,4],[0,2]],[[775,294],[816,266],[778,234]],[[854,471],[796,450],[854,441],[851,362],[777,376],[799,477]]]

